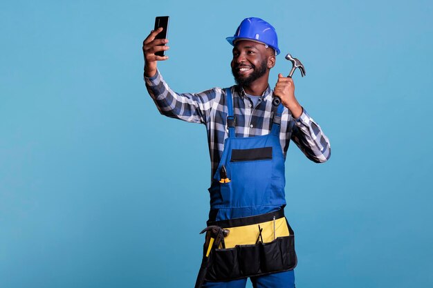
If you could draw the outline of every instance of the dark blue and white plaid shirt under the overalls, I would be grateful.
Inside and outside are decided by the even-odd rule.
[[[154,77],[145,77],[149,95],[154,99],[161,114],[187,122],[202,123],[208,130],[208,144],[212,175],[214,175],[223,154],[224,140],[228,137],[226,125],[228,107],[223,88],[212,88],[201,93],[174,92],[164,81],[159,71]],[[236,117],[236,137],[266,135],[272,128],[272,115],[277,111],[273,106],[273,90],[268,86],[259,98],[256,107],[240,86],[232,86],[233,111]],[[313,162],[325,162],[331,156],[328,138],[319,125],[304,110],[295,119],[284,107],[279,133],[279,142],[284,157],[290,140]]]

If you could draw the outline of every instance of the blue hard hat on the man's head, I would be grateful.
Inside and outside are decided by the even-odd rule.
[[[232,44],[232,46],[234,46],[234,43],[237,40],[241,39],[258,41],[273,48],[275,52],[277,52],[277,55],[279,54],[277,32],[275,32],[275,28],[273,28],[270,23],[260,18],[250,17],[243,19],[241,25],[237,28],[236,33],[234,33],[234,36],[225,39],[227,39],[228,43]]]

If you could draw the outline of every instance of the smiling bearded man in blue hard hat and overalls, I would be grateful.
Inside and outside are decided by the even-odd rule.
[[[329,140],[295,98],[293,79],[270,69],[279,54],[268,22],[244,19],[233,37],[232,73],[237,85],[202,93],[175,93],[156,68],[168,57],[167,39],[143,42],[147,90],[163,115],[203,123],[212,165],[210,213],[196,287],[295,287],[293,231],[284,217],[284,161],[290,140],[313,162],[326,162]],[[282,104],[273,106],[273,95]]]

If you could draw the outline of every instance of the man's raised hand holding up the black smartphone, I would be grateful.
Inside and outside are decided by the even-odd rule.
[[[152,30],[142,43],[142,52],[145,57],[145,77],[153,77],[156,74],[156,62],[165,61],[168,56],[156,56],[158,51],[169,50],[168,46],[161,46],[167,44],[167,39],[155,39],[156,35],[163,31],[163,28]]]

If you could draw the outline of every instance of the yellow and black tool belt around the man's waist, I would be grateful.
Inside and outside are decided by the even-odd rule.
[[[283,210],[208,222],[208,227],[211,226],[229,232],[217,244],[210,232],[206,234],[203,247],[203,258],[209,260],[206,281],[236,280],[288,271],[297,264],[293,230]]]

